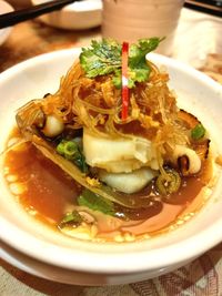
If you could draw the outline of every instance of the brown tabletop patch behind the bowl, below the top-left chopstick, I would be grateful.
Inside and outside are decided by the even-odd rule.
[[[17,24],[0,47],[0,72],[34,55],[88,44],[100,37],[100,28],[87,31],[53,29],[38,21]]]

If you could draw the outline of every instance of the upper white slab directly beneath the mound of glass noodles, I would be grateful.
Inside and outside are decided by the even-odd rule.
[[[83,153],[92,167],[108,172],[132,172],[142,166],[158,170],[157,153],[147,139],[94,136],[87,129],[83,131]]]

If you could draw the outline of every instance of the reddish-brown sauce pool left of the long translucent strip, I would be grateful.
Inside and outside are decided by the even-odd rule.
[[[65,205],[79,195],[79,185],[30,144],[26,150],[10,151],[6,166],[11,175],[18,176],[17,182],[26,185],[21,204],[54,222],[62,218]]]

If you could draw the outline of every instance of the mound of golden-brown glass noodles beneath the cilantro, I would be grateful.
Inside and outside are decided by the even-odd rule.
[[[152,141],[160,155],[171,153],[174,145],[189,143],[188,129],[178,116],[175,98],[167,85],[169,75],[152,62],[148,63],[149,80],[130,90],[129,114],[124,122],[121,120],[121,90],[113,85],[112,76],[90,79],[77,62],[61,79],[54,94],[22,109],[23,127],[31,126],[42,110],[46,115],[60,118],[69,129],[84,126],[104,137],[141,135]]]

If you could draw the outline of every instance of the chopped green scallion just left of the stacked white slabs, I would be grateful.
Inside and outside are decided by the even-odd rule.
[[[74,140],[62,140],[57,145],[57,152],[64,159],[73,162],[83,173],[88,172],[84,155],[81,152],[79,144]]]

